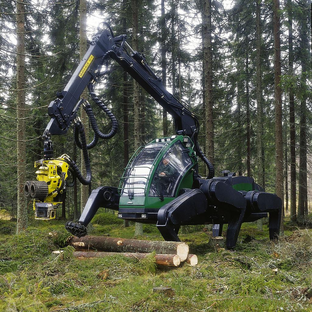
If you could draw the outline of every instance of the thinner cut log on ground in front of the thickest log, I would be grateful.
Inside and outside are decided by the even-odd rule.
[[[148,253],[134,253],[134,252],[100,252],[100,251],[76,251],[74,257],[76,258],[104,258],[108,256],[120,255],[135,259],[144,259],[150,254]],[[156,264],[161,266],[179,266],[180,257],[178,255],[156,254]]]

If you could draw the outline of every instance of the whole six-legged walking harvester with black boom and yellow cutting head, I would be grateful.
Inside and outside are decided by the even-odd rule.
[[[105,29],[100,31],[100,25]],[[179,241],[181,225],[213,224],[214,235],[222,233],[227,223],[227,248],[236,246],[242,222],[252,222],[269,214],[270,239],[278,237],[281,199],[266,193],[253,178],[236,176],[227,170],[222,177],[214,177],[214,168],[198,143],[199,122],[196,116],[170,94],[161,78],[149,67],[145,56],[127,43],[127,35],[114,36],[103,22],[90,41],[90,47],[71,76],[64,90],[48,107],[51,117],[44,133],[43,159],[35,162],[37,180],[25,183],[25,193],[33,197],[36,219],[53,219],[62,204],[68,183],[68,171],[84,185],[91,182],[88,150],[99,139],[110,139],[117,133],[117,120],[95,94],[95,84],[105,75],[102,67],[109,58],[127,71],[174,119],[176,135],[155,138],[138,149],[130,159],[119,188],[101,186],[93,190],[78,222],[65,227],[73,235],[87,234],[87,225],[99,207],[118,210],[118,217],[143,223],[154,223],[165,240]],[[91,99],[105,112],[111,131],[103,134],[98,128],[90,103],[80,98],[88,86]],[[87,144],[85,132],[77,112],[82,105],[94,131]],[[86,168],[83,177],[70,156],[54,158],[51,137],[66,134],[74,128],[74,141],[82,149]],[[198,173],[199,158],[207,165],[209,174]]]

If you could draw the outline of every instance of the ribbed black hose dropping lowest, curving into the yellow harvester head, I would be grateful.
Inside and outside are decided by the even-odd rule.
[[[91,183],[92,174],[91,174],[90,158],[89,158],[88,149],[87,149],[87,142],[85,139],[85,129],[80,120],[76,121],[75,127],[77,127],[76,131],[79,129],[78,131],[79,131],[79,136],[81,140],[80,145],[82,149],[83,159],[85,161],[85,170],[87,172],[86,178],[83,177],[77,164],[71,158],[66,157],[66,160],[68,164],[71,166],[71,169],[75,173],[76,178],[79,180],[79,182],[83,185],[89,185]]]

